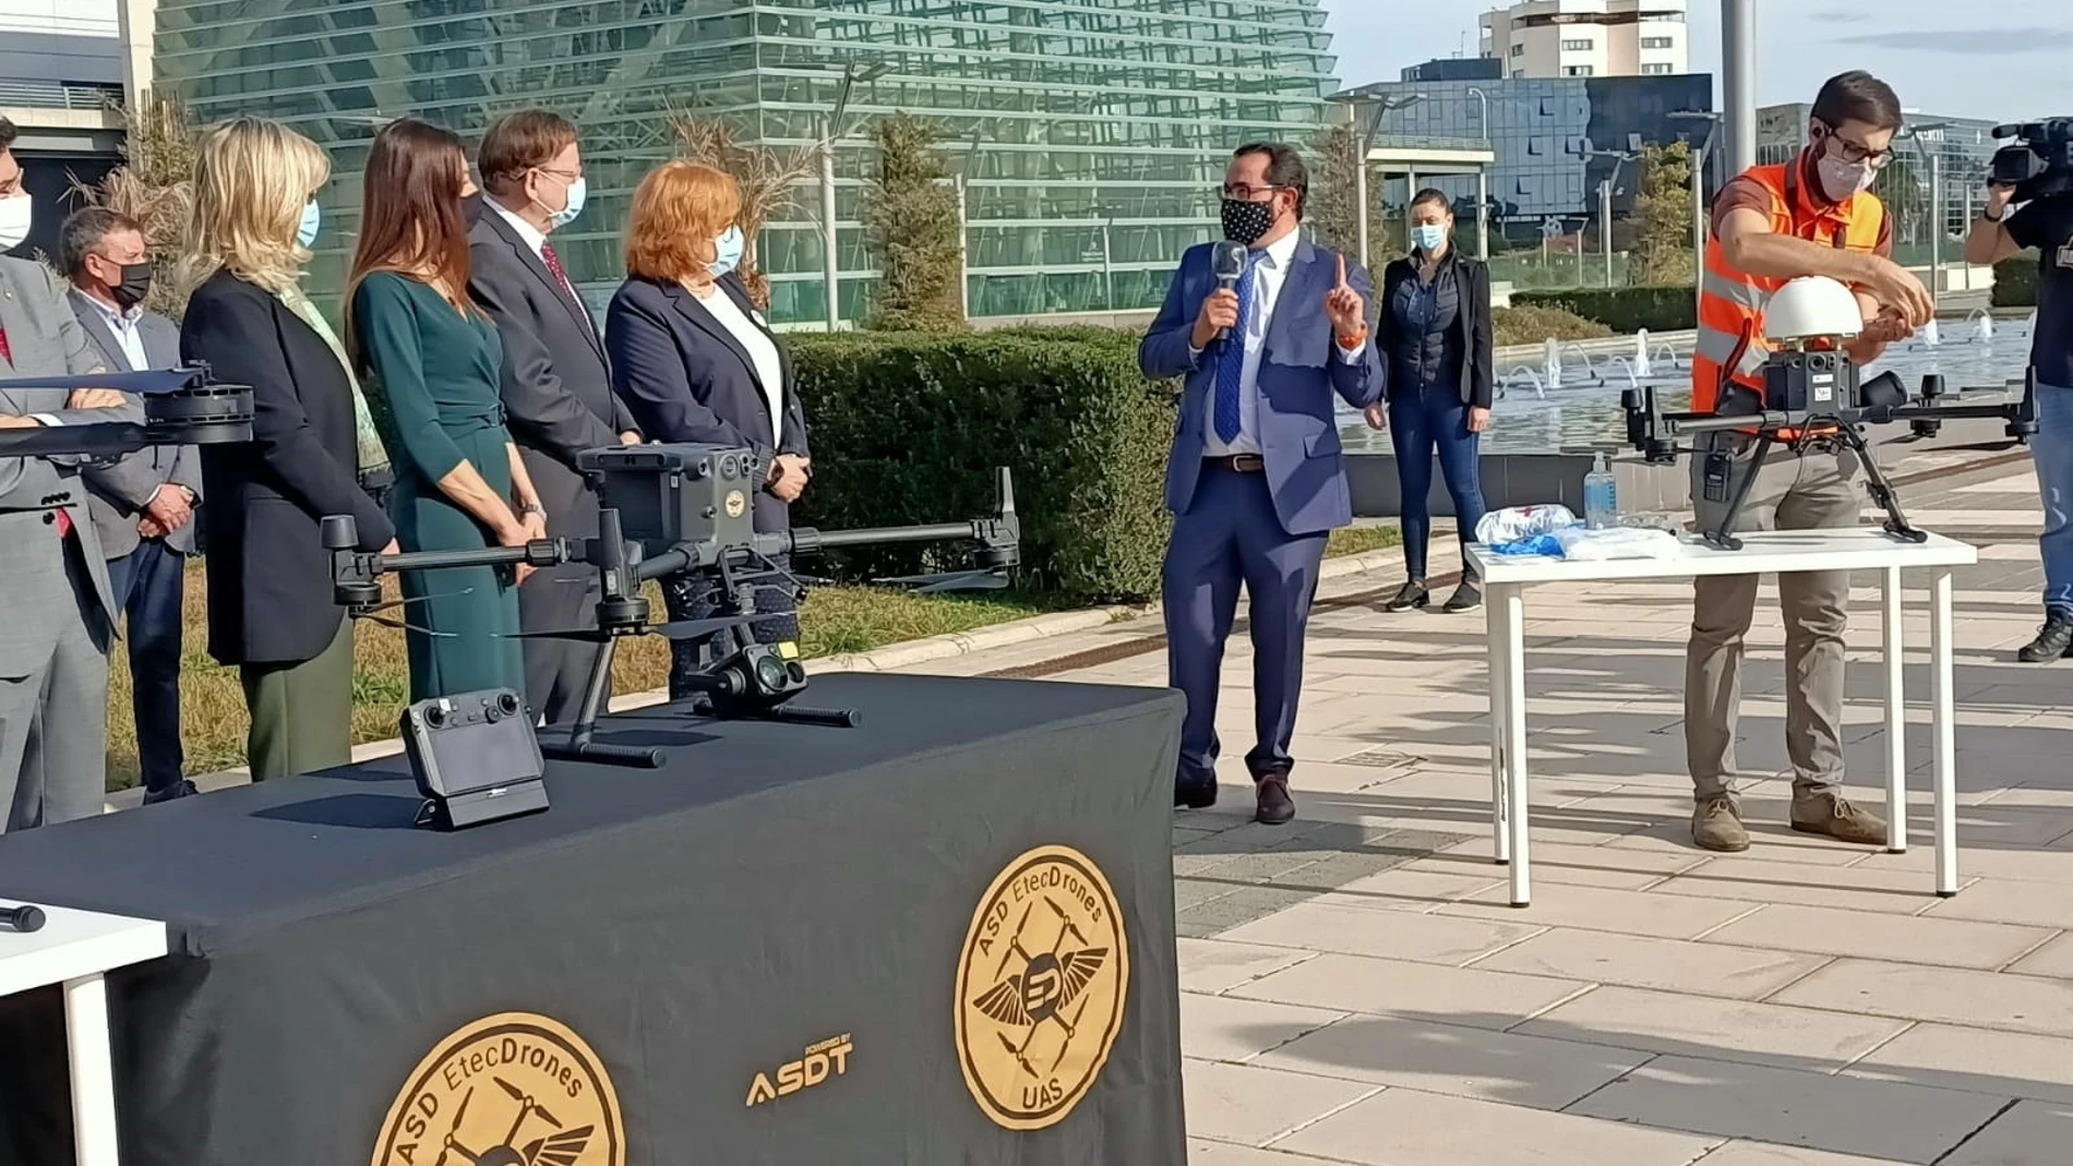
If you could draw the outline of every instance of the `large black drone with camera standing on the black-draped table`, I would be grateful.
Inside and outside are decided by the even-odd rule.
[[[587,563],[597,570],[601,599],[595,625],[520,634],[520,638],[601,644],[574,729],[566,741],[541,746],[545,756],[558,760],[661,766],[661,750],[593,739],[603,712],[612,657],[618,640],[626,636],[699,644],[692,688],[701,694],[697,710],[703,715],[854,727],[858,721],[854,710],[792,706],[790,700],[806,690],[798,646],[761,644],[750,634],[755,623],[771,619],[757,615],[759,592],[777,588],[794,601],[804,596],[798,576],[782,559],[835,547],[972,543],[970,570],[879,580],[927,592],[1003,588],[1007,570],[1022,561],[1022,520],[1016,516],[1014,480],[1005,468],[999,470],[997,509],[987,518],[867,530],[792,528],[773,534],[755,530],[755,495],[765,480],[765,466],[748,449],[622,445],[578,456],[578,468],[597,489],[597,538],[371,555],[357,549],[359,530],[350,516],[323,520],[334,592],[354,619],[375,617],[390,607],[381,594],[384,574],[520,563],[531,567]],[[649,623],[649,601],[641,594],[641,584],[663,576],[688,576],[694,599],[709,603],[715,617]]]

